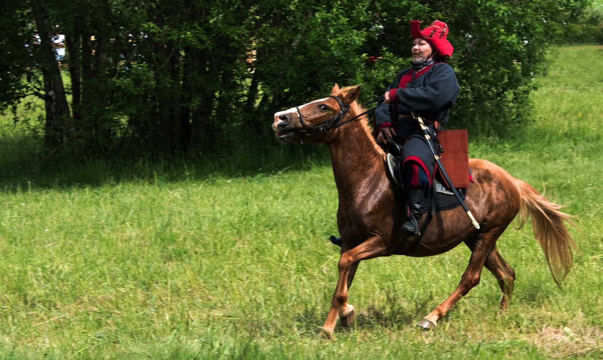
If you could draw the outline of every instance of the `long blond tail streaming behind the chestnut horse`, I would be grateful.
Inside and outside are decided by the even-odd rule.
[[[552,203],[522,180],[516,180],[517,187],[522,195],[522,207],[520,209],[522,222],[517,229],[525,224],[528,216],[532,216],[532,227],[534,235],[542,250],[545,252],[546,262],[555,283],[562,288],[560,280],[566,277],[573,264],[573,248],[576,243],[570,236],[563,221],[576,226],[572,221],[572,215],[561,212],[563,206]]]

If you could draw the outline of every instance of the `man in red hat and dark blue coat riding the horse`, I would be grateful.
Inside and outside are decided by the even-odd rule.
[[[412,67],[402,70],[387,87],[384,99],[389,106],[380,106],[375,112],[377,141],[385,142],[385,131],[403,144],[402,163],[406,191],[405,220],[402,235],[419,235],[418,220],[423,215],[425,198],[429,195],[435,174],[434,155],[415,116],[425,119],[433,133],[435,122],[448,121],[448,112],[458,97],[455,72],[446,63],[453,47],[446,39],[448,26],[434,21],[421,30],[418,21],[411,21]],[[437,150],[435,137],[432,147]]]

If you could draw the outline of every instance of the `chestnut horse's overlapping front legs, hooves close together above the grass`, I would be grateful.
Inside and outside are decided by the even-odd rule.
[[[324,321],[323,329],[327,335],[335,330],[337,318],[341,320],[341,326],[351,326],[354,321],[354,307],[347,303],[348,288],[352,285],[356,267],[362,260],[371,259],[377,256],[384,256],[386,248],[384,242],[379,236],[372,236],[367,241],[357,247],[346,251],[339,257],[337,267],[339,269],[339,278],[333,299],[331,300],[331,308],[327,320]]]

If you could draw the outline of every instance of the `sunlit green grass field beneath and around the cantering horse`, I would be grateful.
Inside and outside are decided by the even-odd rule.
[[[510,228],[497,242],[517,274],[507,311],[484,270],[437,329],[421,331],[414,324],[456,287],[469,250],[378,258],[350,289],[355,327],[329,340],[320,326],[339,257],[327,240],[337,233],[329,166],[229,178],[140,163],[130,175],[66,166],[28,178],[39,160],[19,154],[35,145],[3,118],[0,359],[603,358],[603,49],[552,57],[537,121],[514,139],[473,141],[470,156],[576,215],[580,252],[563,291],[531,227]]]

